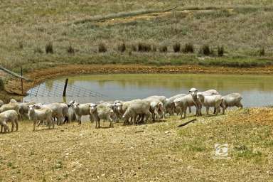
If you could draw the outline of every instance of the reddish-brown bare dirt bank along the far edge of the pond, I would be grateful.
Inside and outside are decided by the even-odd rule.
[[[262,68],[224,68],[204,67],[200,65],[179,66],[151,66],[151,65],[60,65],[54,68],[35,70],[25,76],[33,80],[24,82],[23,90],[26,92],[39,83],[64,75],[77,74],[113,74],[113,73],[209,73],[209,74],[272,74],[273,66]],[[10,80],[6,84],[6,91],[21,94],[21,80]]]

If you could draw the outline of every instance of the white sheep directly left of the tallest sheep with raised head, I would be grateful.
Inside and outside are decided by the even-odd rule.
[[[186,109],[187,107],[195,106],[196,103],[193,101],[192,95],[188,94],[183,97],[178,97],[173,100],[175,107],[180,109],[181,116],[180,118],[186,118]],[[182,117],[184,114],[184,117]],[[198,109],[196,109],[196,115],[198,115]]]

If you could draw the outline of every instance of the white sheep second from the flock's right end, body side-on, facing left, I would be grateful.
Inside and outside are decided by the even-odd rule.
[[[216,108],[215,114],[220,112],[220,105],[223,102],[222,95],[203,95],[198,94],[198,100],[206,109],[206,115],[208,115],[208,110],[210,107]]]

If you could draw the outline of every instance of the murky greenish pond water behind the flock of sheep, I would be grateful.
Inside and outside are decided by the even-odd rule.
[[[112,74],[77,75],[68,78],[65,99],[61,97],[65,77],[59,77],[29,90],[30,95],[24,100],[45,103],[63,100],[76,100],[80,103],[132,100],[150,95],[171,97],[178,93],[187,93],[191,87],[196,87],[200,91],[215,89],[222,95],[239,92],[245,107],[273,105],[271,75]]]

